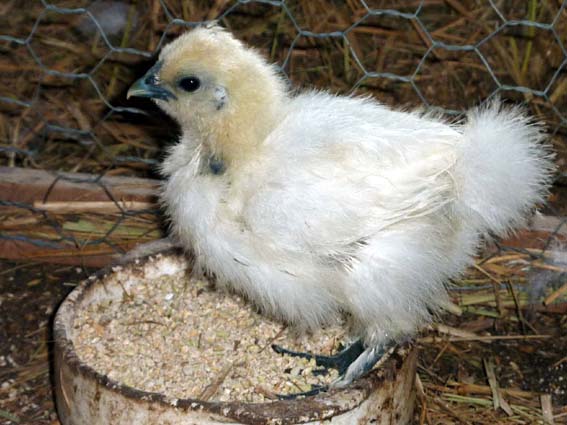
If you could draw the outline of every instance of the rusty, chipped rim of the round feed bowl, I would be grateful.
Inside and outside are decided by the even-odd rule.
[[[124,385],[94,370],[79,359],[68,329],[72,328],[75,312],[81,306],[85,296],[97,285],[112,284],[112,278],[118,272],[144,277],[149,267],[156,267],[160,262],[189,262],[187,256],[169,250],[155,256],[136,259],[120,266],[109,266],[85,279],[63,301],[54,320],[55,350],[70,370],[82,378],[95,381],[111,392],[140,403],[158,403],[165,407],[182,410],[200,410],[221,415],[236,421],[250,424],[263,424],[266,420],[281,424],[310,422],[330,419],[359,406],[369,395],[385,381],[393,381],[395,373],[402,366],[409,353],[409,347],[398,348],[380,367],[353,384],[311,397],[295,400],[275,400],[264,403],[209,402],[198,399],[178,399],[161,393],[143,391]],[[394,376],[393,376],[394,375]]]

